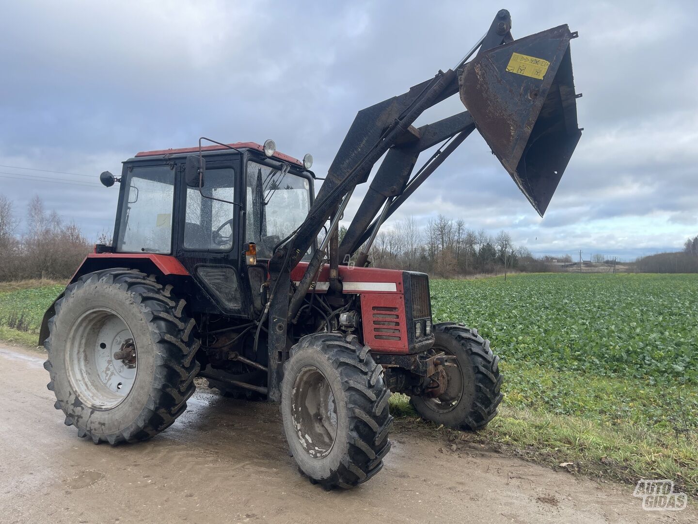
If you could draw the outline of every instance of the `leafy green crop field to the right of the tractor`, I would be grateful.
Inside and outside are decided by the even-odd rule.
[[[698,275],[440,280],[431,293],[434,321],[491,340],[510,405],[698,426]]]

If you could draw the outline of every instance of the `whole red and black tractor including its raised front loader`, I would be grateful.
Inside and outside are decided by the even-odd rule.
[[[380,470],[391,391],[426,420],[484,427],[502,399],[489,341],[433,323],[427,275],[371,268],[368,254],[380,225],[475,129],[546,210],[581,136],[577,34],[562,25],[514,40],[510,29],[500,10],[453,69],[359,111],[317,196],[311,157],[270,140],[200,139],[103,173],[107,187],[120,183],[114,240],[87,256],[40,333],[66,424],[95,443],[148,439],[204,377],[224,395],[281,402],[290,453],[326,488]],[[465,111],[413,126],[454,94]],[[384,154],[340,242],[352,191]]]

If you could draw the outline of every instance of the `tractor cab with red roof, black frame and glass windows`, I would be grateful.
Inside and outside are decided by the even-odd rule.
[[[195,177],[192,163],[205,166]],[[299,161],[276,152],[271,140],[201,152],[140,152],[124,162],[107,249],[174,256],[207,295],[195,300],[198,310],[255,314],[274,246],[302,223],[313,203],[311,163],[309,155]],[[107,185],[113,180],[103,177]],[[254,256],[247,255],[251,245]]]

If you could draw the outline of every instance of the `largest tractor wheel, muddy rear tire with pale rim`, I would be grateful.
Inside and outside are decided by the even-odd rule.
[[[185,304],[171,285],[124,268],[89,273],[66,288],[44,344],[47,387],[66,425],[113,445],[149,439],[184,412],[200,347]],[[117,360],[120,349],[132,358]]]

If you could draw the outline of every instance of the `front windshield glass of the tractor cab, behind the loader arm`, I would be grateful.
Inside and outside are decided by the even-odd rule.
[[[310,209],[307,178],[247,162],[245,241],[255,242],[257,256],[268,259],[274,245],[297,228]]]

